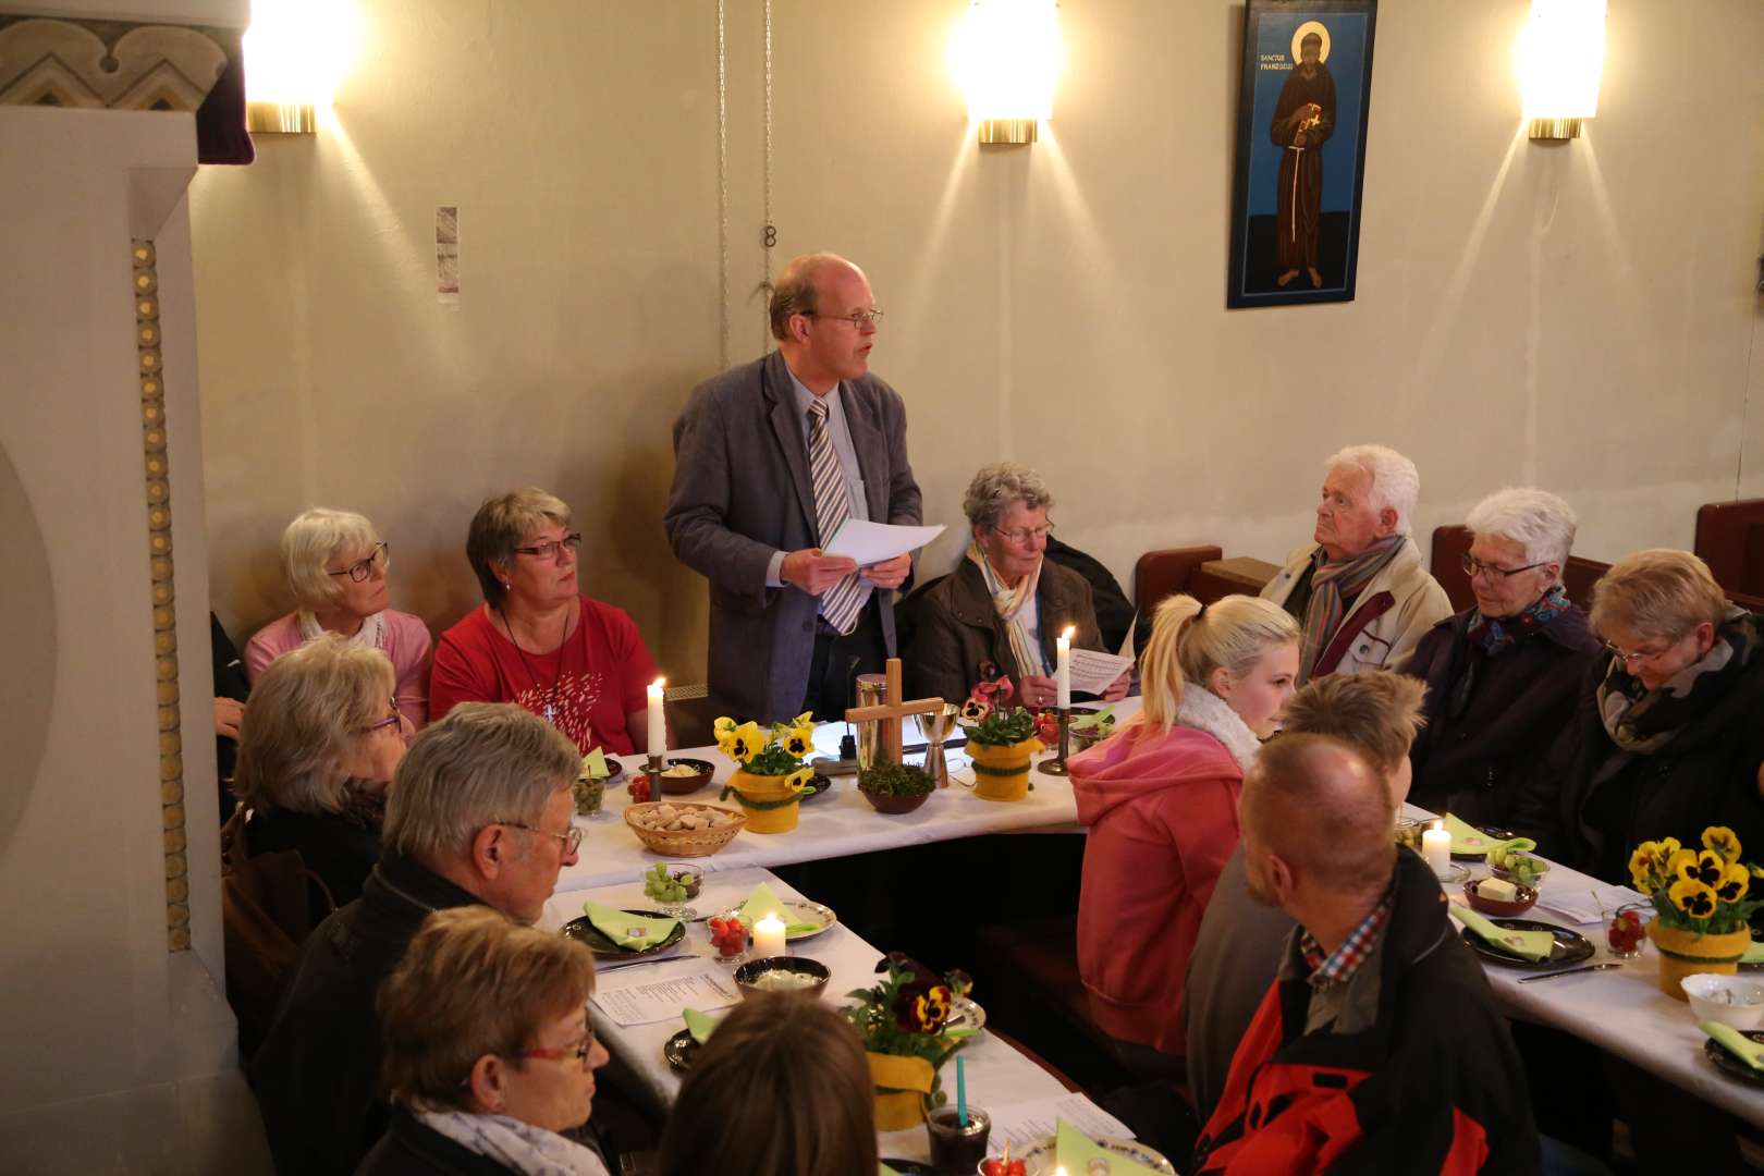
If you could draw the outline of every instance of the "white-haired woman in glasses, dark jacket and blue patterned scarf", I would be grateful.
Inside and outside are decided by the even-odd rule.
[[[1476,502],[1466,524],[1476,603],[1432,626],[1406,670],[1427,684],[1409,797],[1506,825],[1542,749],[1568,725],[1598,642],[1561,585],[1575,529],[1566,502],[1506,488]]]

